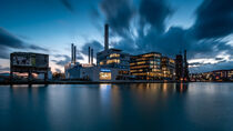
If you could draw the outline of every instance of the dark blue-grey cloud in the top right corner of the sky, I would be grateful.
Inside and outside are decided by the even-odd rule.
[[[232,0],[204,0],[196,10],[196,21],[193,26],[196,38],[221,38],[232,33]]]

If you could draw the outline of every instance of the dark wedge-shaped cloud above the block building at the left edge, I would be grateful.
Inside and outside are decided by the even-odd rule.
[[[18,37],[8,32],[3,28],[0,28],[0,48],[1,48],[1,52],[0,52],[1,59],[9,59],[11,49],[17,49],[17,50],[29,49],[29,50],[44,51],[44,52],[49,51],[45,48],[41,48],[36,44],[29,44],[29,43],[23,42]]]

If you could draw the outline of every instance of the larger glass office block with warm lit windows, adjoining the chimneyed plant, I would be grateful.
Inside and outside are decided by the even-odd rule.
[[[163,77],[161,71],[161,53],[150,52],[132,56],[130,60],[130,72],[141,80],[159,80]]]

